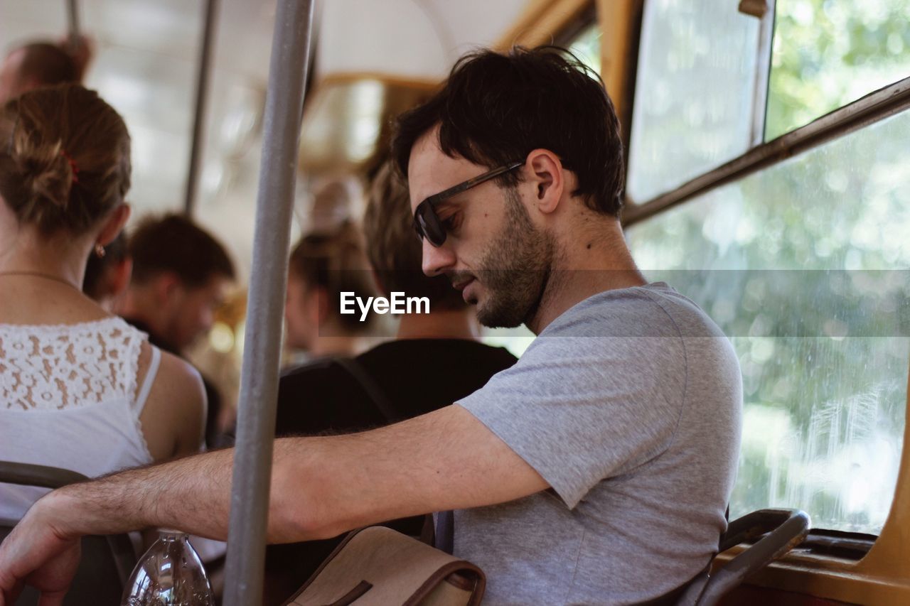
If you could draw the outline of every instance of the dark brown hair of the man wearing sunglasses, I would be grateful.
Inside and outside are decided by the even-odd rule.
[[[571,192],[597,212],[622,209],[620,123],[600,78],[556,46],[480,50],[463,56],[445,86],[399,117],[392,155],[407,177],[410,150],[434,126],[440,147],[485,167],[523,160],[536,148],[558,155],[578,178]],[[500,183],[513,187],[518,173]]]

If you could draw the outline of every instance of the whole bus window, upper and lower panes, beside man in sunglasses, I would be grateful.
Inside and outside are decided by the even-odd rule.
[[[900,3],[849,4],[777,3],[768,136],[907,76],[898,67],[907,64],[900,58],[905,21],[883,21]],[[910,112],[906,103],[864,99],[856,104],[864,121],[851,122],[844,110],[826,125],[797,129],[788,137],[796,143],[750,148],[749,120],[765,106],[760,96],[754,108],[744,100],[745,80],[761,69],[762,56],[749,46],[744,56],[723,55],[744,57],[742,64],[712,60],[696,35],[700,22],[681,27],[671,19],[695,10],[662,2],[645,8],[628,181],[630,197],[660,199],[627,209],[632,252],[649,278],[666,279],[705,308],[739,355],[743,451],[731,517],[797,508],[816,528],[878,534],[894,499],[910,367]],[[728,19],[726,29],[713,23],[707,38],[728,50],[735,41],[726,32],[753,18],[725,15],[725,5],[697,10],[709,21]],[[818,35],[815,22],[804,23],[814,11],[853,23],[852,34]],[[815,38],[806,46],[810,30]],[[669,69],[690,56],[668,50],[676,39],[694,41],[702,53],[685,76],[697,86]],[[673,83],[675,96],[655,113]],[[835,94],[823,103],[825,86]],[[715,98],[723,90],[725,98]],[[712,113],[705,104],[718,105]],[[824,136],[807,138],[823,126]],[[662,162],[646,161],[652,156]]]

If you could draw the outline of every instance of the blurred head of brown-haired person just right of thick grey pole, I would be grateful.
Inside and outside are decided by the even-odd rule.
[[[361,298],[376,294],[362,236],[350,222],[302,237],[290,253],[285,305],[289,348],[303,349],[313,358],[357,353],[371,322],[341,313],[342,292]]]

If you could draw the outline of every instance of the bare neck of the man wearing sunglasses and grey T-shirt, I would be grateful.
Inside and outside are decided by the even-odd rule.
[[[598,221],[562,238],[537,313],[526,324],[534,334],[586,298],[617,288],[647,284],[622,237],[618,219]]]

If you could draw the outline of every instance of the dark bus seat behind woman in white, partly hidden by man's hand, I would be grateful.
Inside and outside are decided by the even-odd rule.
[[[8,484],[55,489],[83,480],[88,478],[76,471],[0,461],[0,482]],[[6,538],[17,521],[0,520],[0,540]],[[118,606],[134,566],[136,553],[125,534],[83,537],[82,560],[76,578],[66,594],[65,606]],[[15,606],[33,606],[37,603],[38,592],[26,587],[15,601]]]

